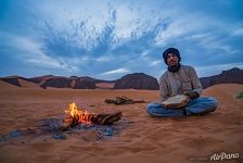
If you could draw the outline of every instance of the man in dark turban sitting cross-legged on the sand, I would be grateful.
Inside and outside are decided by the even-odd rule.
[[[181,65],[180,52],[168,48],[163,53],[167,71],[159,78],[161,100],[176,95],[186,95],[189,102],[181,109],[166,109],[159,103],[148,104],[148,113],[152,116],[189,116],[213,112],[217,108],[215,98],[201,98],[202,86],[192,66]]]

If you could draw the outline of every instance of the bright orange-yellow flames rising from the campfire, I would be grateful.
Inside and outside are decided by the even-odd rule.
[[[69,108],[67,110],[65,110],[66,113],[66,117],[65,117],[65,122],[72,122],[72,121],[77,121],[78,123],[91,123],[91,118],[93,117],[94,114],[90,114],[87,112],[87,110],[85,111],[79,111],[78,106],[76,105],[75,102],[72,102],[69,104]]]

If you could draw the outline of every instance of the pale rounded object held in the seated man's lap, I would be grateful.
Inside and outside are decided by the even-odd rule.
[[[169,97],[167,100],[162,102],[162,105],[166,109],[182,109],[187,105],[189,99],[184,95],[177,95]]]

